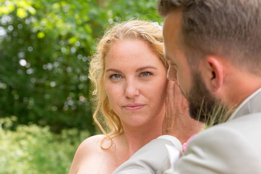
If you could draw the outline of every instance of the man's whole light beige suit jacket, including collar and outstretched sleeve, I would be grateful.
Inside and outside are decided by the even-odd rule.
[[[113,174],[235,173],[261,174],[261,88],[246,99],[231,118],[197,134],[173,168],[167,139],[154,139]]]

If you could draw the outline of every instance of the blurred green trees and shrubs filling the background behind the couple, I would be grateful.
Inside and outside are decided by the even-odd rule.
[[[163,20],[157,0],[0,0],[1,174],[69,172],[99,133],[87,77],[97,38],[131,18]]]

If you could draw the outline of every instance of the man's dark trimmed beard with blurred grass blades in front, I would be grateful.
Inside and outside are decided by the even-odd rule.
[[[208,126],[225,122],[230,115],[227,107],[221,104],[220,99],[211,95],[201,73],[192,73],[192,88],[187,95],[190,117]]]

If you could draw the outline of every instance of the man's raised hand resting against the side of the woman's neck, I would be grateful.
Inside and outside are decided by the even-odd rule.
[[[172,135],[181,144],[202,129],[203,123],[189,116],[189,107],[177,81],[168,81],[162,135]]]

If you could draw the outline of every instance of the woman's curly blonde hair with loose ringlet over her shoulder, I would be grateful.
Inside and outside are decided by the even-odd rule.
[[[110,46],[125,39],[137,39],[147,43],[150,48],[157,53],[162,64],[168,69],[168,61],[164,56],[164,44],[162,30],[158,26],[148,21],[129,20],[111,24],[105,31],[104,36],[99,40],[96,46],[96,52],[93,54],[89,64],[89,79],[93,85],[93,99],[95,112],[93,114],[94,122],[99,126],[104,135],[101,141],[101,148],[108,149],[112,146],[112,137],[124,133],[121,121],[110,107],[108,96],[104,88],[105,57]],[[106,125],[106,129],[101,125]],[[106,139],[110,139],[111,145],[103,147]]]

